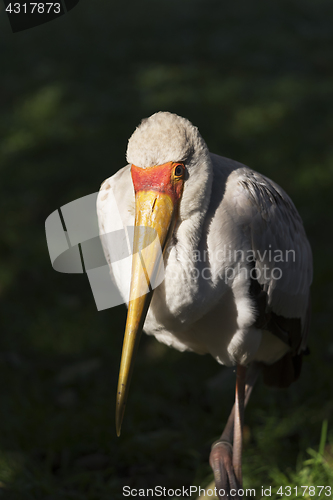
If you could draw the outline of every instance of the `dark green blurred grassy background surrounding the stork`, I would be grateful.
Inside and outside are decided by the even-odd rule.
[[[256,387],[245,485],[333,486],[332,26],[330,0],[82,0],[13,35],[1,4],[0,498],[117,499],[123,485],[212,479],[233,373],[144,336],[117,439],[125,307],[98,313],[86,276],[53,271],[44,234],[51,212],[125,165],[128,137],[159,110],[299,209],[314,252],[311,355],[290,389]]]

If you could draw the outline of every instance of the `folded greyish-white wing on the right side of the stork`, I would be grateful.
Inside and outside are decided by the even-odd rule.
[[[282,336],[287,330],[291,337],[288,330],[295,327],[298,333],[288,341],[294,352],[305,349],[312,253],[293,202],[267,177],[240,167],[228,177],[224,205],[252,251],[256,271],[251,288],[266,297],[266,312],[272,313],[269,329]]]

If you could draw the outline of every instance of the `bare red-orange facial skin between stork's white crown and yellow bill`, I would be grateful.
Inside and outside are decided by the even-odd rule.
[[[175,175],[178,165],[183,167],[181,176]],[[132,164],[131,168],[134,191],[157,191],[170,196],[173,203],[179,202],[184,186],[184,165],[180,162],[168,162],[154,167],[140,168]]]

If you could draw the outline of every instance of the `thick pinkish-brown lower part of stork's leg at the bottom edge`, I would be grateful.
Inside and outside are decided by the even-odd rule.
[[[229,441],[219,439],[212,445],[209,456],[209,464],[214,472],[215,486],[220,500],[239,500],[238,483],[232,464],[232,444]]]

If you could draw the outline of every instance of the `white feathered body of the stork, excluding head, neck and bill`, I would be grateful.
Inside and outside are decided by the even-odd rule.
[[[193,224],[187,219],[175,228],[166,250],[165,280],[154,292],[144,331],[180,351],[210,353],[227,366],[254,360],[271,364],[290,348],[267,330],[253,326],[258,312],[250,290],[252,257],[259,250],[257,266],[268,291],[269,308],[286,318],[301,318],[304,325],[311,283],[309,243],[293,203],[281,188],[240,163],[215,154],[210,157],[207,211],[199,224],[194,213]],[[110,207],[114,199],[123,225],[134,226],[130,165],[101,187],[102,234],[118,227]],[[105,251],[110,262],[110,253]],[[281,278],[274,280],[272,269],[281,267]],[[131,260],[116,262],[112,273],[128,301]],[[275,270],[273,274],[279,277],[280,273]]]

